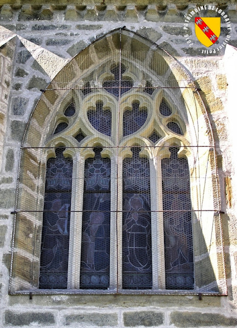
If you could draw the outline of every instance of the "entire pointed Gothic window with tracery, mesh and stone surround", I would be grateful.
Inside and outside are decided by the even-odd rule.
[[[211,136],[149,40],[118,29],[75,56],[22,142],[10,293],[225,294]]]

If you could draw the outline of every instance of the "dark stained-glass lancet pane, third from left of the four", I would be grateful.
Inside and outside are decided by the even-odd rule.
[[[132,148],[123,161],[123,289],[152,288],[150,168]]]

